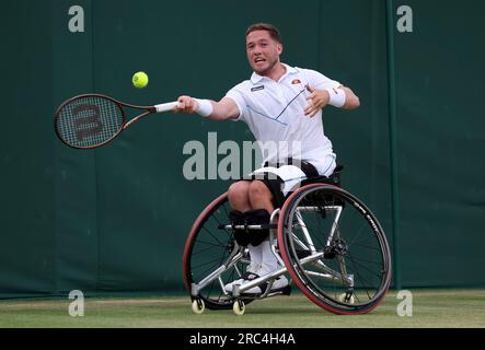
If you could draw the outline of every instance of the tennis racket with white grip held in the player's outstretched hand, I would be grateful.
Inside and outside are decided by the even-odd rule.
[[[94,149],[113,141],[135,121],[157,113],[169,112],[178,102],[155,106],[135,106],[101,94],[79,95],[63,102],[56,110],[57,137],[74,149]],[[126,120],[126,108],[143,110]]]

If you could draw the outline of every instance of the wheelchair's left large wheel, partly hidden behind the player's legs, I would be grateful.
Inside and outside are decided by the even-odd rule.
[[[227,194],[223,194],[199,214],[192,226],[183,258],[185,288],[190,295],[192,284],[200,283],[220,268],[234,250],[232,231],[220,228],[220,225],[229,224],[230,211]],[[192,298],[203,300],[209,310],[231,310],[234,301],[226,293],[223,285],[239,279],[249,262],[249,256],[243,256],[234,266],[204,287],[197,296],[192,295]]]

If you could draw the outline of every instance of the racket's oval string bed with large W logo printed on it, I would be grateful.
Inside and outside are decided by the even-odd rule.
[[[101,96],[85,96],[62,106],[56,128],[66,143],[92,148],[115,137],[124,121],[123,110],[115,102]]]

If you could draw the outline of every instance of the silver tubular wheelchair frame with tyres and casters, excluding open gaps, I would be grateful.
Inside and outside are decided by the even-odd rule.
[[[336,271],[335,269],[327,266],[323,260],[326,258],[326,254],[330,254],[330,250],[333,249],[333,243],[334,242],[340,242],[342,237],[339,236],[339,223],[342,219],[342,213],[344,211],[344,207],[339,205],[328,205],[328,206],[298,206],[298,203],[295,205],[295,198],[298,199],[298,196],[301,195],[304,190],[312,190],[312,187],[319,187],[319,189],[333,189],[334,191],[338,192],[345,192],[349,196],[349,198],[354,201],[355,208],[360,211],[362,215],[367,215],[366,219],[369,221],[369,225],[376,231],[381,232],[381,249],[386,250],[383,254],[383,260],[384,261],[384,281],[382,285],[380,285],[380,290],[377,291],[376,300],[372,301],[372,303],[369,306],[366,307],[359,307],[359,308],[353,308],[351,305],[355,304],[354,300],[354,288],[355,288],[355,276],[353,273],[347,273],[347,265],[346,265],[346,256],[345,256],[345,246],[340,247],[342,252],[340,254],[336,254],[336,259],[338,260],[339,271]],[[216,200],[212,201],[221,201],[224,200],[224,195],[219,196]],[[304,197],[304,194],[301,196]],[[291,202],[293,200],[293,203]],[[301,200],[301,198],[300,198]],[[184,252],[184,270],[185,273],[185,284],[187,288],[187,291],[190,294],[190,299],[193,301],[193,311],[195,313],[203,313],[205,310],[205,303],[204,299],[200,296],[201,291],[204,291],[209,285],[213,285],[212,283],[217,281],[217,284],[220,288],[221,295],[223,295],[227,300],[227,303],[232,303],[233,312],[236,315],[244,314],[245,311],[245,302],[252,302],[254,300],[281,295],[281,294],[289,294],[289,290],[285,291],[278,291],[278,292],[272,292],[272,285],[273,281],[278,278],[279,276],[289,272],[292,280],[296,282],[296,284],[303,291],[303,293],[312,300],[315,304],[319,306],[331,311],[336,314],[361,314],[361,313],[368,313],[371,310],[373,310],[379,302],[384,296],[386,290],[389,289],[390,284],[390,278],[391,278],[391,258],[390,258],[390,252],[389,252],[389,245],[385,240],[385,235],[383,234],[383,230],[380,226],[377,219],[373,217],[373,214],[370,212],[369,209],[355,196],[348,194],[347,191],[343,190],[342,188],[338,188],[334,185],[331,185],[328,183],[310,183],[308,185],[304,185],[297,189],[285,202],[281,209],[275,209],[270,215],[270,223],[268,225],[231,225],[231,224],[224,224],[219,223],[218,229],[224,230],[227,232],[232,232],[234,229],[250,229],[250,230],[262,230],[262,229],[269,229],[269,242],[272,246],[273,254],[278,259],[279,264],[281,265],[281,268],[279,268],[276,271],[273,271],[268,275],[258,277],[252,281],[245,282],[242,285],[233,285],[232,293],[229,293],[224,290],[224,282],[222,280],[222,275],[234,269],[235,273],[238,275],[238,278],[242,276],[242,271],[238,268],[239,262],[249,264],[249,260],[246,259],[247,256],[247,248],[241,247],[238,245],[238,243],[234,241],[232,249],[229,254],[229,256],[224,259],[224,261],[216,269],[211,270],[205,278],[203,278],[200,281],[194,282],[190,280],[190,277],[187,276],[187,273],[190,273],[190,271],[187,271],[187,261],[190,260],[190,254],[192,254],[192,245],[194,242],[193,240],[196,240],[196,236],[192,234],[195,229],[200,226],[200,218],[205,218],[207,213],[211,213],[211,206],[207,207],[206,210],[203,211],[203,213],[199,215],[199,218],[194,223],[193,230],[190,231],[189,236],[187,237],[186,243],[186,249]],[[282,235],[284,235],[284,229],[278,230],[279,226],[282,228],[284,225],[284,217],[280,215],[281,211],[291,211],[295,215],[296,222],[298,222],[299,228],[301,229],[302,238],[297,237],[295,234],[291,234],[290,237],[293,242],[293,246],[298,246],[303,252],[305,252],[305,256],[302,258],[297,258],[296,262],[291,261],[291,252],[287,249],[288,252],[285,254],[281,254],[281,246],[278,246],[275,242],[275,237],[278,235],[278,244],[281,245],[284,242]],[[323,248],[317,248],[315,242],[313,242],[312,235],[309,232],[307,224],[303,220],[302,214],[304,213],[322,213],[325,212],[334,212],[334,221],[332,222],[332,226],[330,229],[328,236],[326,237],[326,243]],[[189,247],[187,249],[187,247]],[[295,248],[293,248],[295,250]],[[295,252],[293,252],[295,253]],[[335,252],[334,252],[335,254]],[[295,255],[295,254],[293,254]],[[298,254],[297,254],[298,255]],[[333,259],[333,258],[332,258]],[[188,264],[189,265],[189,264]],[[303,266],[312,266],[312,268],[315,270],[303,270]],[[304,275],[302,277],[302,275]],[[308,283],[303,281],[304,278],[311,279],[312,277],[319,278],[320,280],[326,280],[331,282],[339,282],[342,283],[343,288],[345,288],[344,293],[338,295],[338,298],[335,300],[325,300],[325,298],[315,296],[313,291],[311,291],[312,288],[309,288]],[[290,280],[291,282],[291,280]],[[256,287],[262,285],[264,283],[267,283],[267,288],[265,291],[259,295],[246,295],[244,294],[245,291]],[[224,307],[220,308],[229,308],[228,305],[224,305]],[[210,307],[209,307],[210,308]],[[217,307],[213,307],[217,308]]]

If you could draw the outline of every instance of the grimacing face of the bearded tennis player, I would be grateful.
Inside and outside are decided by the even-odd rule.
[[[254,31],[246,36],[247,60],[259,75],[267,74],[282,52],[282,45],[276,42],[267,31]]]

